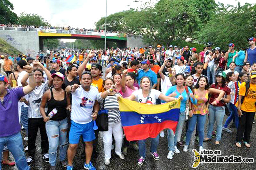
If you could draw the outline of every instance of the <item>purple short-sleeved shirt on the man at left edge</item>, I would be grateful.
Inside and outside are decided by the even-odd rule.
[[[0,137],[11,136],[20,131],[18,101],[24,95],[22,87],[7,89],[4,102],[0,102]]]

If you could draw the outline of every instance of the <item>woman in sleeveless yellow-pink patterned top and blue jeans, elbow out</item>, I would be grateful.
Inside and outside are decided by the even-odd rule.
[[[188,130],[186,133],[186,144],[183,148],[183,151],[188,150],[188,145],[190,142],[191,135],[195,129],[196,123],[197,123],[197,131],[199,136],[199,152],[203,151],[203,140],[204,140],[204,124],[206,115],[208,113],[208,104],[207,101],[209,99],[208,94],[209,93],[219,93],[218,98],[212,102],[213,105],[218,104],[222,96],[225,94],[224,91],[218,90],[215,88],[209,88],[208,79],[205,76],[200,76],[195,88],[193,89],[193,93],[195,95],[195,98],[197,99],[197,104],[192,104],[191,102],[189,105],[192,104],[192,113],[189,112],[189,116],[191,119],[188,122]]]

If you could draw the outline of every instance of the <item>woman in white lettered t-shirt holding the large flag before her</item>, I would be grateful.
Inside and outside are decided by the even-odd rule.
[[[164,100],[166,102],[176,100],[177,98],[165,96],[163,93],[156,89],[151,89],[152,83],[148,77],[142,77],[140,79],[140,89],[136,90],[126,99],[135,100],[140,103],[156,104],[156,100]],[[150,153],[155,160],[159,160],[159,156],[156,152],[159,141],[159,134],[155,138],[151,138]],[[146,157],[146,139],[139,140],[139,152],[140,158],[138,159],[138,165],[141,166]]]

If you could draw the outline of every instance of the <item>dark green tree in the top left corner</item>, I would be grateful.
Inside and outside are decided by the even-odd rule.
[[[0,23],[15,24],[18,21],[17,15],[12,12],[13,5],[8,0],[0,0]]]

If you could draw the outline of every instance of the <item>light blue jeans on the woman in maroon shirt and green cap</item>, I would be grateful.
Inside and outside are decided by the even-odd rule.
[[[217,126],[216,141],[220,141],[224,115],[225,115],[224,106],[213,106],[211,104],[209,105],[209,114],[208,114],[209,125],[208,125],[208,132],[207,132],[207,137],[209,139],[212,138],[213,125],[216,120],[216,126]]]

